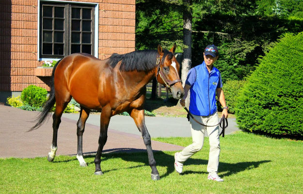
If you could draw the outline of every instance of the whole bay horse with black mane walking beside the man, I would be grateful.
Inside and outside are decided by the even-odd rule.
[[[61,116],[73,97],[80,104],[80,118],[77,122],[78,152],[80,166],[87,166],[82,153],[82,135],[90,111],[99,110],[100,135],[96,152],[95,175],[102,175],[100,162],[103,146],[107,141],[110,119],[118,113],[128,112],[142,133],[152,169],[151,178],[160,178],[151,147],[150,135],[145,127],[144,101],[146,84],[156,77],[157,81],[180,99],[184,90],[179,77],[179,63],[175,59],[175,45],[170,50],[138,50],[127,54],[112,54],[100,60],[85,53],[74,53],[58,61],[52,71],[50,95],[37,123],[31,130],[39,128],[56,103],[53,118],[53,139],[48,161],[53,162],[57,150],[57,132]]]

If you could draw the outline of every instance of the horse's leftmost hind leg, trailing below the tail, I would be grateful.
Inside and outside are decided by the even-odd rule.
[[[58,98],[58,97],[57,97]],[[56,151],[57,151],[57,133],[58,133],[58,128],[61,123],[61,116],[62,113],[64,112],[64,109],[66,108],[68,102],[71,100],[71,97],[66,100],[66,101],[59,101],[56,98],[56,109],[55,113],[53,114],[53,140],[52,144],[50,146],[50,152],[48,152],[48,161],[53,162],[54,158],[56,156]]]

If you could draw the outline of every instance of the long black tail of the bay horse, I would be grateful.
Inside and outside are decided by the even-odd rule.
[[[37,119],[35,120],[37,123],[28,131],[32,131],[34,129],[38,129],[39,127],[41,127],[41,125],[43,125],[43,123],[46,121],[47,118],[49,118],[49,111],[53,108],[55,102],[56,102],[56,98],[55,98],[55,87],[54,87],[54,76],[55,76],[55,70],[57,65],[61,62],[62,59],[60,59],[56,65],[53,68],[53,71],[51,73],[51,82],[50,82],[50,94],[48,97],[48,100],[45,102],[43,108],[42,108],[42,112],[39,113]]]

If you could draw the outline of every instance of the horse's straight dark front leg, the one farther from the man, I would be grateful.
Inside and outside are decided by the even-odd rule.
[[[95,175],[103,175],[100,167],[101,163],[101,154],[103,150],[103,146],[105,145],[107,141],[107,129],[109,127],[110,119],[112,115],[112,110],[110,106],[106,106],[102,108],[101,116],[100,116],[100,135],[99,135],[99,146],[98,150],[96,153],[96,158],[95,158],[95,166],[96,166],[96,171]]]

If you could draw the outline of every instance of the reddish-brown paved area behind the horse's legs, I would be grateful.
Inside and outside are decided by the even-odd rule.
[[[39,112],[24,111],[0,105],[0,158],[45,157],[52,142],[52,118],[39,129],[27,132]],[[58,130],[56,155],[77,155],[77,121],[62,118]],[[96,154],[99,126],[86,124],[83,134],[83,154]],[[152,141],[155,151],[177,151],[184,147]],[[114,129],[108,130],[103,153],[146,151],[141,135]]]

